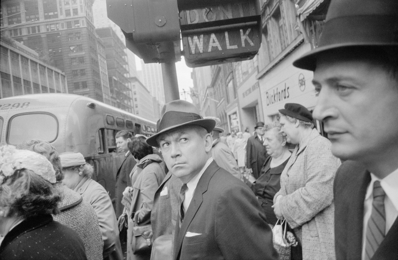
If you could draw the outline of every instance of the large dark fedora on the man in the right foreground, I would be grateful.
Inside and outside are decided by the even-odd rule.
[[[314,71],[319,53],[352,46],[398,47],[398,0],[332,0],[318,47],[293,65]]]

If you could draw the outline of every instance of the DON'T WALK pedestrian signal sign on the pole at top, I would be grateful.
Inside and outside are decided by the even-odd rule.
[[[251,59],[258,52],[258,1],[182,8],[179,16],[185,61],[190,67]]]

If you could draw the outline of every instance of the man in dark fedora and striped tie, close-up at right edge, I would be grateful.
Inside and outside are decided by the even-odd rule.
[[[332,153],[336,258],[398,258],[398,1],[332,0],[318,48],[293,63],[314,71]]]

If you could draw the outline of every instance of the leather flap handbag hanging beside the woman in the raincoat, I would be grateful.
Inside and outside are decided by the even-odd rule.
[[[133,241],[131,244],[134,254],[150,251],[153,244],[151,225],[134,226]]]

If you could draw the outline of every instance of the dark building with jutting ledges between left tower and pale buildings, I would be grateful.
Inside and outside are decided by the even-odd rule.
[[[125,67],[127,65],[126,46],[111,27],[98,28],[96,33],[105,48],[109,90],[116,102],[112,105],[134,113],[131,88],[129,79],[126,77],[128,73]]]

